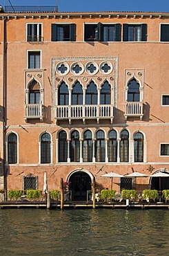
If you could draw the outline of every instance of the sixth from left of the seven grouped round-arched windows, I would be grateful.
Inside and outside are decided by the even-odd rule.
[[[120,161],[128,162],[129,135],[127,130],[121,131],[120,140]]]

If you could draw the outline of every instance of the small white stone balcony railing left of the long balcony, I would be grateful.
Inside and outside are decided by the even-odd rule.
[[[25,118],[40,118],[43,119],[43,105],[42,104],[26,104]]]

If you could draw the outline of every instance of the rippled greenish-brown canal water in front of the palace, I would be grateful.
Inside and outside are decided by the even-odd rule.
[[[169,255],[169,210],[0,210],[0,255]]]

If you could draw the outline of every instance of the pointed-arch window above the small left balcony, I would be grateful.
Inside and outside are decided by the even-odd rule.
[[[40,86],[37,81],[33,81],[29,86],[29,104],[40,104]]]

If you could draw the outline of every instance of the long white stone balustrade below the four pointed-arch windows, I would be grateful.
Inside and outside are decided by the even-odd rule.
[[[54,111],[56,119],[75,118],[113,118],[112,105],[72,105],[57,106]]]

